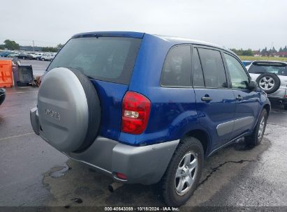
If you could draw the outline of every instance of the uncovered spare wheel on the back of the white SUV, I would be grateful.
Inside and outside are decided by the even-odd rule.
[[[274,73],[263,73],[257,77],[256,82],[267,94],[277,91],[281,84],[279,77]]]

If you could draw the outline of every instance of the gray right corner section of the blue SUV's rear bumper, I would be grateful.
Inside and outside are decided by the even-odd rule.
[[[112,150],[112,172],[128,176],[127,183],[152,184],[161,180],[179,140],[148,146],[117,144]]]

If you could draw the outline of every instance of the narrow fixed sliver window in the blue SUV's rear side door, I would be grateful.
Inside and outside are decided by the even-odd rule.
[[[198,49],[193,51],[193,86],[205,86],[203,78],[203,68],[201,68],[200,59],[198,56]]]

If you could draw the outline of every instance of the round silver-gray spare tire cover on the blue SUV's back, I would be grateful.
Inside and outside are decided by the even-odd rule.
[[[41,136],[59,151],[78,152],[94,142],[101,106],[88,77],[72,68],[50,70],[38,91]]]

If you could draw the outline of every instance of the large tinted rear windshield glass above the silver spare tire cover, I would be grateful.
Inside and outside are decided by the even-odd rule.
[[[129,84],[141,39],[73,38],[54,58],[47,71],[75,68],[92,79]]]

